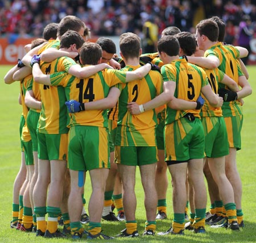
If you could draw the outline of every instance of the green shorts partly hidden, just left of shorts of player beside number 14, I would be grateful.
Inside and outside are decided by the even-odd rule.
[[[38,135],[36,133],[36,128],[38,127],[40,113],[29,110],[27,114],[27,127],[30,130],[30,135],[33,143],[33,151],[38,151]]]

